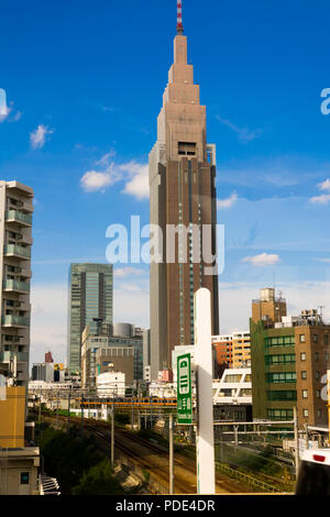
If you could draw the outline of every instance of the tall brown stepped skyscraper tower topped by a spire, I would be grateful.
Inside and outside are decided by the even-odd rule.
[[[219,327],[218,275],[206,274],[210,262],[205,257],[206,252],[216,255],[216,146],[207,144],[206,107],[199,102],[193,65],[187,64],[179,0],[174,64],[148,169],[151,224],[157,224],[163,235],[163,263],[151,260],[151,375],[156,378],[158,370],[172,367],[174,346],[194,343],[194,294],[198,288],[211,292],[213,334]],[[178,230],[173,262],[166,258],[169,226]],[[196,229],[200,238],[196,238]]]

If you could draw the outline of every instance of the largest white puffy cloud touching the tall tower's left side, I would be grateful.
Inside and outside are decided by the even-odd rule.
[[[122,193],[144,199],[148,197],[148,167],[145,164],[135,162],[134,160],[117,164],[111,158],[114,152],[107,153],[100,158],[96,165],[103,167],[102,170],[88,170],[80,179],[80,186],[84,190],[91,193],[105,191],[111,185],[124,182]]]

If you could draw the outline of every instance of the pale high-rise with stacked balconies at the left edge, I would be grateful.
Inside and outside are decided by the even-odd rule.
[[[0,182],[0,374],[28,388],[33,190]]]

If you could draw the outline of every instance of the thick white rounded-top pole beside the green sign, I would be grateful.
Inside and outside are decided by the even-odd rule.
[[[197,493],[215,494],[211,295],[195,293],[195,364],[197,381]]]

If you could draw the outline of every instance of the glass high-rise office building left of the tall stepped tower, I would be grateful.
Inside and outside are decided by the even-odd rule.
[[[80,371],[81,333],[87,324],[90,331],[97,320],[112,324],[113,266],[112,264],[70,264],[68,289],[68,367]]]

